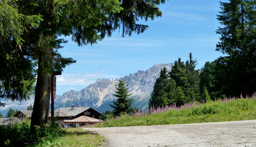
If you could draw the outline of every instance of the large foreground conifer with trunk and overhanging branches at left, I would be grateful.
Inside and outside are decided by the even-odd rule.
[[[4,89],[4,93],[12,93],[13,90],[22,88],[22,95],[28,95],[33,87],[30,86],[32,85],[31,78],[22,79],[22,72],[32,75],[37,68],[36,72],[34,71],[37,74],[37,81],[30,129],[33,132],[35,125],[43,127],[44,123],[48,122],[49,116],[51,74],[55,70],[62,70],[67,65],[75,62],[72,58],[62,57],[58,52],[58,49],[62,48],[61,43],[67,42],[63,39],[57,39],[58,36],[70,35],[72,41],[76,42],[78,46],[82,46],[96,44],[106,36],[110,37],[115,30],[121,29],[123,37],[125,35],[130,36],[133,32],[140,34],[148,26],[138,24],[138,20],[147,21],[162,16],[162,12],[157,7],[161,3],[165,3],[165,0],[1,1],[0,41],[2,41],[2,38],[5,40],[0,49],[8,51],[7,55],[1,59],[4,60],[4,63],[9,60],[9,54],[18,52],[15,55],[25,58],[23,61],[29,66],[28,68],[23,66],[24,69],[21,68],[21,76],[16,80],[17,83],[19,81],[23,82],[22,87],[18,87],[19,84],[11,85],[11,87],[5,84],[2,87],[2,83],[0,83],[0,93],[2,89]],[[5,15],[6,13],[10,15]],[[13,18],[15,19],[13,20]],[[16,25],[16,22],[18,22],[18,25]],[[16,42],[17,39],[20,39],[20,41]],[[15,63],[19,63],[18,61]],[[9,76],[14,78],[18,70],[16,68],[10,70],[7,67],[6,71],[10,71]],[[12,99],[15,97],[6,98]],[[18,99],[20,101],[24,100],[23,97],[18,97]]]

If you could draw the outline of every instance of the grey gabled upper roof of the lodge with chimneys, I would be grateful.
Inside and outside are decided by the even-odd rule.
[[[78,114],[80,114],[90,108],[93,109],[95,112],[99,113],[99,116],[105,116],[104,114],[98,112],[97,110],[95,110],[92,107],[73,107],[73,109],[71,107],[65,107],[65,108],[58,108],[58,109],[60,110],[60,113],[64,113],[67,116],[77,116]],[[54,113],[58,112],[58,109],[56,109],[54,111]]]

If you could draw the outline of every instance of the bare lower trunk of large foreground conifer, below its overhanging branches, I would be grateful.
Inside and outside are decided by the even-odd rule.
[[[30,132],[33,132],[35,125],[43,127],[48,122],[49,104],[51,92],[51,74],[46,72],[46,69],[52,66],[53,50],[48,47],[42,53],[39,53],[38,73],[35,89],[35,101],[33,106],[33,113],[31,117]]]

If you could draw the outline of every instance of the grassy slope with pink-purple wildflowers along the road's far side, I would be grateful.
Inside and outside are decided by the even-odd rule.
[[[147,115],[123,115],[118,119],[109,119],[96,127],[143,126],[188,124],[205,122],[223,122],[256,119],[256,98],[209,101],[204,104],[182,106],[169,111]]]

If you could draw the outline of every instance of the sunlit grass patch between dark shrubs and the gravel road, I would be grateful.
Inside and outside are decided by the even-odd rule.
[[[82,128],[68,128],[66,133],[39,146],[60,146],[60,147],[97,147],[106,146],[105,138],[99,134],[90,133]]]

